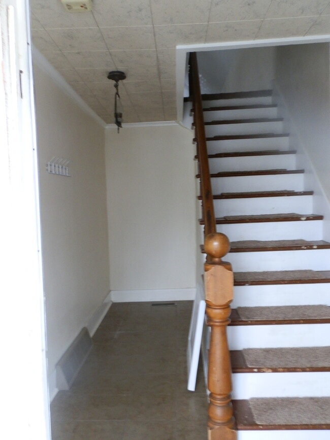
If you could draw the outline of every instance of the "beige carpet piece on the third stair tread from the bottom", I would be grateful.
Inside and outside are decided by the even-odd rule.
[[[328,306],[238,307],[237,312],[246,321],[330,318]]]

